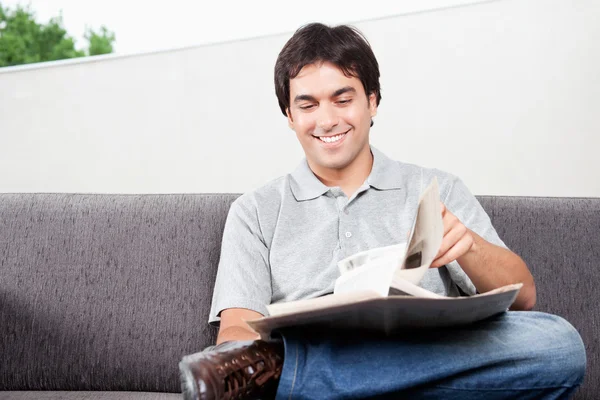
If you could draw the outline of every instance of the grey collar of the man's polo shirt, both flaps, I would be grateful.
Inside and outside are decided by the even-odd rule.
[[[402,188],[400,164],[371,146],[373,167],[366,183],[378,190]],[[298,201],[312,200],[327,193],[329,187],[319,180],[308,166],[306,158],[291,173],[290,187]]]

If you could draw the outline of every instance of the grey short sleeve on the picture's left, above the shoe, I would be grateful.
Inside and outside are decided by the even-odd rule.
[[[225,222],[208,321],[211,325],[219,325],[220,313],[227,308],[267,314],[272,294],[268,260],[256,207],[242,196],[232,204]]]

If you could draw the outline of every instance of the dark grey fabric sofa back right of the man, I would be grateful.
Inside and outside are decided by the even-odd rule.
[[[600,198],[479,197],[498,235],[527,263],[535,310],[559,315],[581,335],[587,373],[575,398],[600,393]]]

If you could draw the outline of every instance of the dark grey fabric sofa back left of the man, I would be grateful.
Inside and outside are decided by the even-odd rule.
[[[0,195],[0,390],[180,390],[231,195]]]

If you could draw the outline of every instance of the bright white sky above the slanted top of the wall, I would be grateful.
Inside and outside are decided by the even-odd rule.
[[[498,0],[487,0],[498,1]],[[287,32],[318,19],[329,24],[482,3],[482,0],[2,0],[3,7],[31,5],[38,21],[59,14],[78,46],[86,27],[116,33],[115,51],[131,54]],[[140,11],[143,10],[143,11]],[[268,12],[267,12],[268,10]]]

